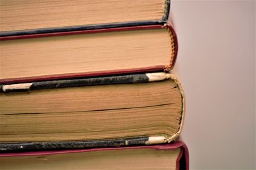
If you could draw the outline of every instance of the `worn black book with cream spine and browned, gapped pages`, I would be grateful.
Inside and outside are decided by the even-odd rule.
[[[170,143],[185,99],[171,73],[1,85],[0,150]]]

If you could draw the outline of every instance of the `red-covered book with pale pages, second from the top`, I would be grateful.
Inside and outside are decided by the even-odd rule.
[[[0,83],[169,71],[177,57],[170,25],[7,36]]]

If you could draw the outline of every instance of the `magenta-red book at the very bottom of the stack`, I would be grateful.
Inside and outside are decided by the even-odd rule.
[[[182,141],[166,145],[0,153],[1,169],[189,169]]]

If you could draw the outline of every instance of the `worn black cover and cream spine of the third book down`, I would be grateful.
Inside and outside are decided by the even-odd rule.
[[[174,80],[182,96],[182,113],[180,118],[180,128],[173,136],[139,136],[122,139],[100,139],[93,141],[70,141],[70,142],[31,142],[31,143],[0,143],[0,151],[50,149],[50,148],[91,148],[91,147],[112,147],[129,145],[152,145],[159,143],[170,143],[179,137],[184,125],[185,117],[185,96],[179,79],[172,73],[146,73],[131,74],[122,76],[106,76],[97,78],[84,78],[74,80],[38,81],[32,83],[19,83],[12,85],[1,85],[1,92],[19,92],[40,89],[55,89],[65,87],[78,87],[88,85],[109,85],[116,83],[148,83],[150,81]]]

